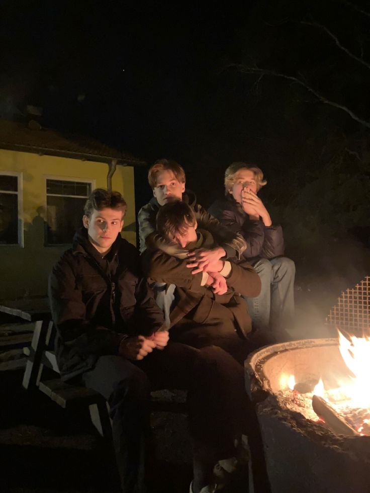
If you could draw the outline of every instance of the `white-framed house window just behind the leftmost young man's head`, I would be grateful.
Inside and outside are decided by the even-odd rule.
[[[46,180],[47,245],[72,243],[90,192],[91,182]]]

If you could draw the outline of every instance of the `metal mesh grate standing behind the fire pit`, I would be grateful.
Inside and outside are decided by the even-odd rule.
[[[370,335],[370,276],[346,289],[326,317],[326,324],[356,336]]]

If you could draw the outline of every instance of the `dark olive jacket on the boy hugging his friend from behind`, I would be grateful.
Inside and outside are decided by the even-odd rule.
[[[199,204],[195,194],[187,190],[182,194],[182,200],[189,204],[195,212],[198,227],[209,231],[214,236],[218,245],[226,252],[226,258],[238,257],[245,250],[245,242],[239,233],[233,233],[227,228],[220,225],[220,221],[212,217]],[[160,208],[155,197],[152,197],[149,203],[142,207],[138,214],[140,252],[146,249],[146,241],[149,235],[153,235],[156,230],[156,216]]]

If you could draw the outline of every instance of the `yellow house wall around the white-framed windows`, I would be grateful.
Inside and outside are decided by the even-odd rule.
[[[24,232],[24,247],[0,245],[0,300],[46,294],[49,272],[68,248],[68,245],[44,246],[46,178],[92,179],[93,187],[106,188],[108,169],[106,163],[0,149],[0,173],[21,173],[19,193],[23,206],[19,220],[23,222]],[[128,205],[125,227],[131,225],[133,231],[124,231],[123,236],[135,244],[133,168],[117,166],[112,187],[125,197]]]

